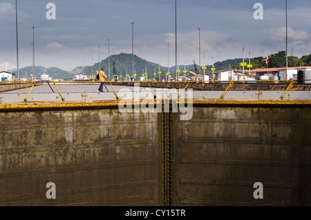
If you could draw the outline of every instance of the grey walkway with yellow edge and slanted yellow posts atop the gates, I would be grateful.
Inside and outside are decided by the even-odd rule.
[[[49,82],[43,86],[27,82],[25,89],[1,92],[0,109],[115,107],[120,102],[156,103],[164,99],[194,104],[311,104],[311,84],[260,82],[106,82],[105,92],[97,91],[98,82]]]

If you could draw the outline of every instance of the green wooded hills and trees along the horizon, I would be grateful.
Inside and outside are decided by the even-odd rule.
[[[279,51],[276,54],[271,54],[268,56],[269,63],[268,68],[284,68],[286,66],[286,59],[285,59],[285,51]],[[112,55],[110,57],[110,77],[113,78],[113,58],[115,59],[115,72],[118,76],[122,75],[122,79],[124,79],[126,73],[129,74],[129,76],[133,76],[132,72],[132,54],[126,54],[121,53],[117,55]],[[267,64],[265,63],[266,57],[253,57],[250,59],[252,64],[252,70],[254,69],[261,69],[261,68],[267,68]],[[228,69],[242,69],[240,66],[243,59],[227,59],[225,61],[217,61],[214,63],[215,71],[218,70],[228,70]],[[245,59],[245,63],[249,63],[248,59]],[[100,65],[100,66],[99,66]],[[305,55],[299,59],[299,57],[288,57],[288,67],[294,67],[294,66],[311,66],[311,54]],[[106,75],[109,75],[109,58],[102,60],[100,63],[95,63],[92,66],[85,66],[84,68],[82,66],[79,66],[75,68],[75,70],[72,71],[65,71],[61,70],[59,68],[44,68],[43,66],[36,66],[35,67],[35,77],[40,77],[41,74],[44,72],[48,74],[53,79],[64,79],[64,80],[70,80],[75,77],[75,74],[79,74],[84,72],[87,76],[95,76],[96,70],[98,68],[105,68]],[[198,67],[198,64],[196,63],[196,67],[198,71],[200,68]],[[171,72],[171,78],[176,77],[175,73],[175,66],[172,66],[169,68]],[[93,72],[92,72],[93,69]],[[156,79],[159,80],[159,65],[158,63],[152,63],[150,61],[146,61],[144,59],[141,59],[140,57],[134,55],[134,72],[136,73],[136,77],[141,77],[143,73],[148,73],[148,79],[153,79],[154,75],[156,74]],[[195,72],[194,70],[194,63],[191,63],[190,65],[180,65],[179,69],[181,70],[180,76],[183,76],[183,70],[191,70],[192,72]],[[162,72],[161,79],[165,78],[165,74],[167,72],[167,67],[160,66],[160,72]],[[202,72],[202,70],[201,70]],[[205,70],[205,73],[211,73],[211,66],[207,66],[207,70]],[[14,72],[17,73],[17,72]],[[30,77],[30,74],[32,73],[32,66],[28,66],[26,68],[21,68],[19,70],[19,76],[21,78]],[[187,74],[189,76],[193,76],[193,74]]]

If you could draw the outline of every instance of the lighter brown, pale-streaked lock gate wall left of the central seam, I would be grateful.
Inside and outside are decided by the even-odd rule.
[[[1,112],[1,206],[155,206],[157,118],[119,110]],[[55,183],[56,199],[46,184]]]

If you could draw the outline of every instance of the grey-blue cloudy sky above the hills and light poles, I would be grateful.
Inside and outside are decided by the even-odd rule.
[[[48,3],[56,6],[47,19]],[[263,19],[254,19],[255,3]],[[132,51],[161,66],[175,66],[174,0],[17,0],[19,67],[35,65],[73,70],[91,66],[110,54]],[[311,53],[311,1],[288,0],[288,49],[301,57]],[[15,1],[0,0],[0,63],[16,66]],[[267,56],[285,50],[285,0],[177,0],[178,64]],[[110,43],[108,41],[110,39]],[[169,46],[167,43],[170,43]],[[100,57],[99,46],[100,44]],[[92,56],[93,51],[93,56]]]

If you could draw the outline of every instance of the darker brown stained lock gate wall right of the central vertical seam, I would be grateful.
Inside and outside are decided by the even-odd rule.
[[[311,205],[310,108],[194,108],[176,123],[175,205]],[[254,183],[263,199],[254,199]]]

